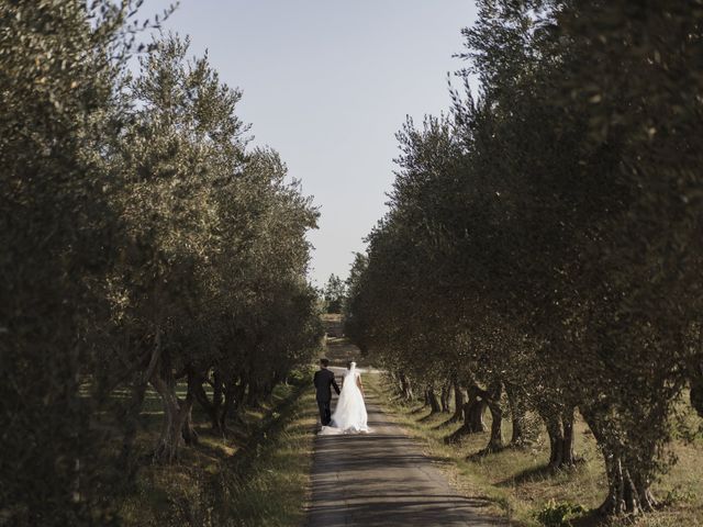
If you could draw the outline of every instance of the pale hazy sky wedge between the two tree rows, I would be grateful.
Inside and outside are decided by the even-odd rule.
[[[147,0],[142,14],[170,3]],[[244,91],[254,144],[276,148],[321,210],[311,278],[345,278],[383,214],[405,115],[449,105],[471,0],[181,0],[165,29]]]

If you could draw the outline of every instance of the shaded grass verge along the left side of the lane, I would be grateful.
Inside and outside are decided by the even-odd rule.
[[[145,459],[134,492],[121,508],[127,527],[295,527],[304,522],[315,424],[308,386],[277,386],[227,437],[213,435],[196,414],[199,445],[172,466]],[[202,421],[200,421],[202,419]],[[156,430],[141,436],[144,448]]]

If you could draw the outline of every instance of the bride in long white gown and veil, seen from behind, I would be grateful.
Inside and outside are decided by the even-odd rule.
[[[342,392],[337,400],[337,407],[332,414],[330,426],[323,426],[321,435],[368,433],[368,415],[364,404],[364,386],[361,375],[356,369],[356,362],[347,362],[344,373]]]

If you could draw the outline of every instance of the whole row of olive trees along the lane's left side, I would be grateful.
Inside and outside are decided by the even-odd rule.
[[[0,2],[8,525],[116,522],[147,389],[170,462],[197,441],[193,404],[223,433],[319,345],[311,200],[247,148],[207,57],[176,36],[136,48],[141,3]]]

